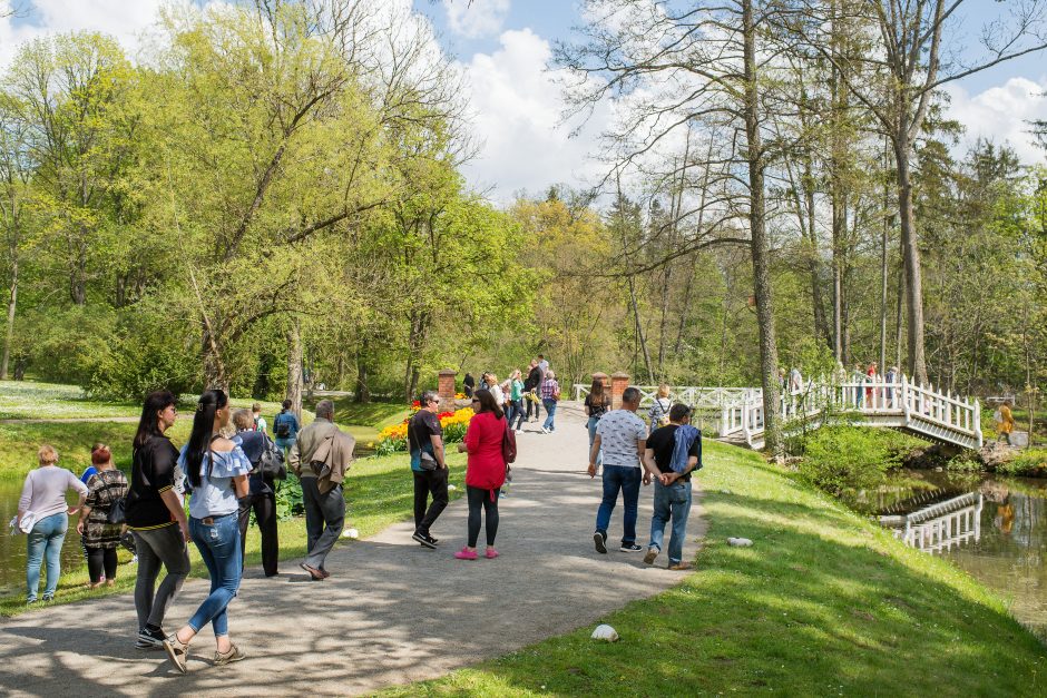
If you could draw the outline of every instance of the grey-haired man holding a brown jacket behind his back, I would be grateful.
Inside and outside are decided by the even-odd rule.
[[[291,466],[302,481],[309,556],[301,567],[313,581],[331,573],[324,567],[327,553],[342,535],[345,494],[342,478],[353,456],[355,440],[334,424],[334,403],[316,403],[316,419],[302,430],[291,449]]]

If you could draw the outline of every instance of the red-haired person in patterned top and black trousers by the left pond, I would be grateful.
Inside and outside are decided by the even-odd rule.
[[[116,584],[116,549],[124,524],[109,523],[109,512],[127,497],[127,476],[112,465],[112,452],[104,443],[91,449],[91,464],[97,472],[87,481],[87,499],[80,508],[77,533],[87,557],[88,589],[98,589],[102,582]]]

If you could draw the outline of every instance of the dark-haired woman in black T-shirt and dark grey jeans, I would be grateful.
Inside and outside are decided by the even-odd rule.
[[[189,522],[183,499],[183,471],[178,450],[165,432],[175,424],[175,396],[167,391],[149,393],[141,407],[131,452],[131,481],[124,517],[135,538],[138,577],[135,610],[141,650],[160,649],[167,637],[164,617],[189,573]],[[167,570],[159,588],[160,567]]]

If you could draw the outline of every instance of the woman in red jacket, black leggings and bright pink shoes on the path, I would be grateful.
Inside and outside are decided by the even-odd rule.
[[[466,466],[466,495],[469,499],[469,544],[454,553],[459,560],[477,559],[477,539],[480,537],[480,508],[487,519],[487,557],[497,558],[495,535],[498,533],[498,490],[506,482],[506,461],[501,454],[507,422],[501,406],[490,391],[477,391],[472,396],[476,415],[466,430],[466,442],[459,452],[469,454]]]

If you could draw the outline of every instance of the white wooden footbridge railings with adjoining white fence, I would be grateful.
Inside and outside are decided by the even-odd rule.
[[[642,405],[652,404],[657,386],[637,386]],[[588,386],[575,385],[581,400]],[[753,449],[764,444],[763,391],[759,387],[673,387],[671,397],[698,411],[713,413],[720,439]],[[786,431],[821,426],[826,415],[849,413],[867,426],[898,429],[920,439],[965,449],[980,449],[981,405],[977,400],[941,393],[932,385],[916,385],[906,376],[892,383],[875,376],[868,382],[809,381],[796,391],[783,391],[780,403]],[[706,420],[707,423],[707,420]]]

